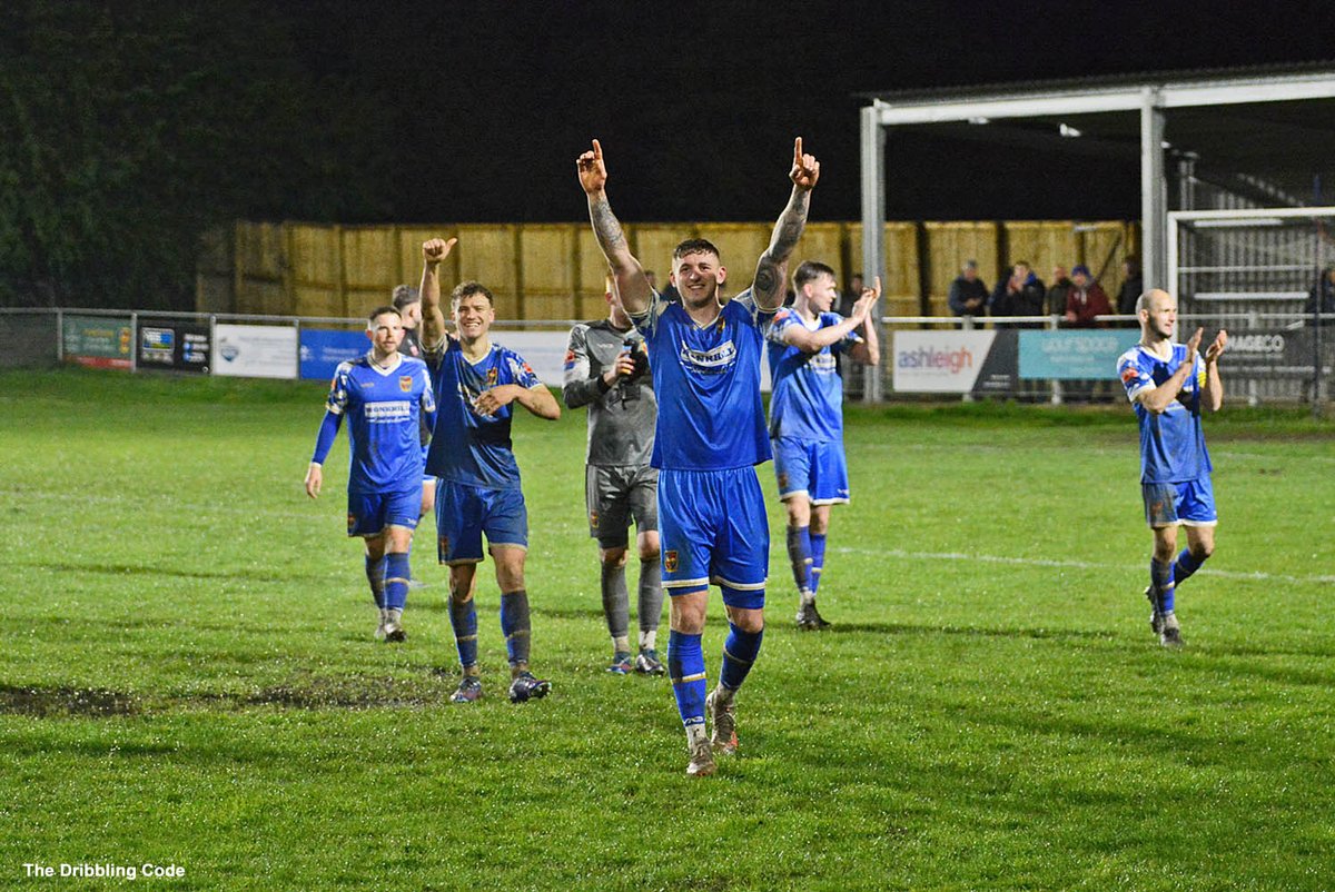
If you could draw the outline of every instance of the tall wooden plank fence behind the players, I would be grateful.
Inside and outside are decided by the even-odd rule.
[[[729,270],[726,291],[752,278],[773,223],[627,224],[635,256],[666,283],[673,247],[702,236]],[[199,262],[196,310],[354,318],[388,302],[399,283],[422,278],[422,242],[458,236],[442,268],[442,287],[483,282],[501,319],[602,316],[606,266],[587,223],[319,226],[238,222],[212,232]],[[886,223],[886,315],[949,315],[947,294],[967,259],[993,286],[1003,266],[1028,260],[1040,278],[1053,264],[1085,263],[1109,296],[1121,286],[1121,259],[1136,250],[1139,226],[1071,220]],[[822,260],[841,286],[861,268],[861,223],[812,223],[789,264]]]

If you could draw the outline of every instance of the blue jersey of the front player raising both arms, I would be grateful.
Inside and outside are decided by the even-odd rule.
[[[650,463],[672,470],[749,467],[770,458],[760,397],[764,334],[773,314],[748,288],[700,327],[657,292],[631,316],[649,345],[658,397]]]

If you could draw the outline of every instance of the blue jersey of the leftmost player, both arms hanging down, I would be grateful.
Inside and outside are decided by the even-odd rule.
[[[384,370],[359,357],[339,363],[324,407],[347,419],[350,493],[422,486],[421,419],[435,411],[426,363],[395,354]]]

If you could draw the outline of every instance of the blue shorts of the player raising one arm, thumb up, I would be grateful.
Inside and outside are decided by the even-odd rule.
[[[441,564],[478,564],[483,533],[489,549],[529,547],[529,509],[519,487],[489,489],[442,478],[435,487],[435,530]]]

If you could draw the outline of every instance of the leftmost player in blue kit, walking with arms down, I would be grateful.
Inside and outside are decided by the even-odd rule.
[[[324,485],[324,459],[347,418],[347,534],[366,546],[366,578],[380,610],[375,637],[403,641],[409,547],[422,501],[421,419],[434,421],[435,397],[426,363],[399,354],[403,320],[378,307],[367,322],[371,350],[339,363],[330,383],[324,421],[306,471],[306,494]]]

